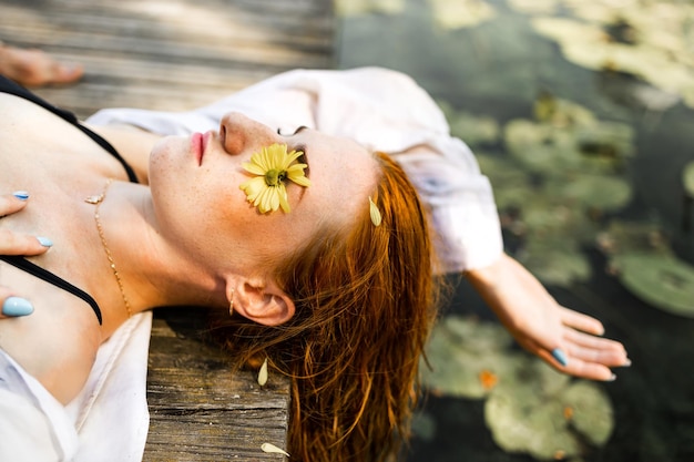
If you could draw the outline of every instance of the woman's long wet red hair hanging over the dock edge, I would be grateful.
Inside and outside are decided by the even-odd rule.
[[[405,172],[377,153],[378,185],[349,229],[319,229],[278,265],[295,305],[268,328],[234,319],[225,343],[292,378],[292,460],[385,461],[409,435],[418,366],[436,318],[427,216]],[[227,320],[225,322],[229,325]]]

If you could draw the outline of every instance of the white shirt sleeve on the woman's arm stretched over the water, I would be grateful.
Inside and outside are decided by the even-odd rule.
[[[481,268],[503,244],[489,179],[442,112],[407,75],[381,68],[296,70],[188,112],[103,110],[92,124],[127,123],[160,134],[216,130],[237,111],[290,133],[299,125],[347,136],[390,154],[431,211],[445,273]]]

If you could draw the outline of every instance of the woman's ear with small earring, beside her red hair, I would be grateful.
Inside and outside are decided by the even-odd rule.
[[[294,301],[275,283],[242,279],[227,287],[227,299],[231,301],[233,297],[234,311],[255,322],[279,326],[294,316]]]

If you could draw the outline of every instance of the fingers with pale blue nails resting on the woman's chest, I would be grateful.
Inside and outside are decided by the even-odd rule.
[[[0,218],[20,212],[27,206],[29,195],[24,192],[0,196]],[[52,243],[45,237],[35,237],[12,233],[0,228],[0,255],[40,255],[45,253]],[[0,287],[0,318],[27,316],[33,311],[31,304],[16,297],[12,290]]]

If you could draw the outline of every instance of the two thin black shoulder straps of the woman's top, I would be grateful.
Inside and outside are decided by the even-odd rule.
[[[52,112],[53,114],[58,115],[59,117],[74,125],[76,129],[81,130],[86,136],[92,138],[96,144],[99,144],[103,150],[105,150],[108,153],[113,155],[123,165],[123,168],[125,170],[125,173],[127,174],[127,178],[132,183],[137,183],[137,176],[135,175],[135,172],[125,162],[125,160],[119,154],[119,152],[115,151],[115,148],[103,137],[92,132],[86,126],[82,125],[80,121],[78,120],[78,117],[72,112],[65,111],[60,107],[55,107],[54,105],[37,96],[29,90],[24,89],[21,85],[18,85],[17,83],[12,82],[11,80],[2,75],[0,75],[0,93],[9,93],[16,96],[23,97],[24,100],[29,100],[32,103],[40,105],[47,111]],[[99,324],[100,325],[102,324],[101,309],[99,308],[99,305],[84,290],[73,286],[67,280],[41,268],[40,266],[34,265],[33,263],[27,260],[25,258],[17,257],[17,256],[0,255],[0,260],[7,261],[10,265],[13,265],[19,269],[27,271],[40,279],[43,279],[44,281],[50,283],[57,287],[60,287],[61,289],[67,290],[70,294],[86,301],[94,310],[94,314],[96,315],[96,318],[99,319]]]

